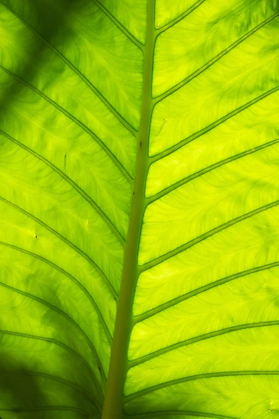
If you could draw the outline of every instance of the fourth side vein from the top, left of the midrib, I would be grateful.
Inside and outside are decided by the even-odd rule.
[[[101,210],[101,208],[92,200],[92,198],[90,198],[89,195],[87,195],[86,192],[83,191],[82,188],[80,188],[80,186],[78,186],[75,182],[73,182],[73,180],[70,179],[70,177],[68,177],[65,173],[63,173],[59,168],[57,168],[56,166],[54,166],[54,164],[52,164],[50,161],[48,161],[47,159],[45,159],[45,157],[40,156],[40,154],[34,152],[31,148],[27,147],[27,145],[22,144],[22,142],[20,142],[20,141],[16,140],[15,138],[11,137],[9,134],[5,133],[1,129],[0,129],[0,133],[4,137],[8,138],[8,140],[14,142],[16,145],[18,145],[22,149],[26,150],[28,153],[33,154],[33,156],[36,157],[36,159],[39,159],[40,161],[43,161],[43,163],[45,163],[47,166],[49,166],[50,168],[52,168],[52,170],[54,170],[54,172],[56,172],[58,175],[60,175],[61,177],[63,177],[63,179],[68,184],[70,184],[70,186],[72,186],[72,188],[75,189],[75,191],[77,191],[77,193],[79,195],[81,195],[82,198],[84,198],[84,200],[86,200],[87,203],[89,203],[89,205],[93,208],[93,210],[95,210],[98,213],[98,215],[100,216],[100,218],[103,219],[103,221],[107,224],[107,226],[110,228],[110,230],[112,231],[112,233],[114,234],[114,236],[117,238],[117,240],[121,243],[121,245],[123,247],[123,244],[125,243],[125,240],[120,235],[119,231],[116,229],[116,227],[114,226],[114,224],[112,223],[112,221],[110,221],[110,219],[107,218],[107,216],[105,215],[105,213],[103,212],[103,210]],[[98,270],[100,271],[100,267],[98,267]]]

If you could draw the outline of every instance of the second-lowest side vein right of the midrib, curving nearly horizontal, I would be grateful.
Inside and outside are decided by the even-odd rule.
[[[167,388],[171,385],[186,383],[188,381],[195,381],[195,380],[203,380],[204,378],[220,378],[220,377],[229,377],[229,376],[266,376],[266,375],[279,375],[279,371],[257,371],[257,370],[250,370],[250,371],[229,371],[229,372],[212,372],[207,374],[199,374],[193,375],[183,378],[177,378],[176,380],[167,381],[165,383],[153,385],[152,387],[146,388],[139,392],[135,392],[132,395],[126,397],[126,402],[130,402],[130,400],[137,399],[142,395],[148,395],[151,392],[156,390],[160,390],[161,388]]]

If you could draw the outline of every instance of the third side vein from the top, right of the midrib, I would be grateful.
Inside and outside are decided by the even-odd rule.
[[[234,117],[234,115],[239,114],[243,110],[246,110],[250,106],[254,105],[255,103],[261,101],[262,99],[264,99],[267,96],[275,93],[278,90],[279,90],[279,86],[273,87],[273,89],[271,89],[269,91],[266,91],[264,94],[261,94],[260,96],[257,96],[256,98],[252,99],[252,101],[249,101],[249,102],[245,103],[244,105],[241,105],[239,108],[236,108],[232,112],[229,112],[227,115],[218,119],[216,122],[213,122],[212,124],[206,126],[205,128],[202,128],[200,131],[197,131],[196,133],[194,133],[194,134],[190,135],[189,137],[185,138],[184,140],[181,140],[176,145],[173,145],[172,147],[169,147],[168,149],[165,149],[164,152],[160,152],[160,153],[156,154],[155,156],[151,156],[151,158],[150,158],[151,163],[153,163],[154,161],[158,161],[160,159],[163,159],[163,157],[168,156],[172,152],[175,152],[176,150],[183,147],[183,145],[188,144],[188,142],[191,142],[191,141],[195,140],[196,138],[199,138],[201,135],[204,135],[205,133],[208,133],[213,128],[216,128],[216,126],[218,126],[220,124],[223,124],[223,122],[226,122],[228,119]]]

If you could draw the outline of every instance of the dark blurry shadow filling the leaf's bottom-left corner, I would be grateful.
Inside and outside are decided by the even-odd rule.
[[[24,364],[24,352],[13,357],[1,355],[0,359],[0,417],[5,411],[15,418],[29,414],[30,418],[49,415],[56,418],[66,415],[73,418],[96,418],[98,409],[91,399],[75,386],[68,386],[54,376],[36,371],[36,365]],[[33,412],[33,413],[32,413]],[[45,412],[45,413],[44,413]],[[51,413],[52,412],[52,413]],[[67,416],[66,416],[67,417]]]

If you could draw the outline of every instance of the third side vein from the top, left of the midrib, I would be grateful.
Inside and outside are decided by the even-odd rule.
[[[8,75],[10,75],[11,77],[15,78],[21,84],[24,84],[25,86],[29,87],[29,89],[35,91],[36,94],[38,94],[40,97],[44,98],[45,101],[47,101],[52,106],[54,106],[54,108],[56,108],[57,110],[59,110],[59,112],[63,113],[63,115],[65,115],[71,121],[73,121],[75,124],[77,124],[78,126],[80,126],[80,128],[82,128],[82,130],[84,132],[86,132],[87,134],[89,134],[91,136],[91,138],[93,138],[93,140],[95,140],[97,142],[97,144],[100,146],[101,149],[103,149],[103,151],[107,154],[107,156],[109,156],[110,159],[112,159],[113,163],[119,169],[119,171],[121,172],[121,174],[123,175],[123,177],[125,177],[125,179],[130,184],[133,182],[133,178],[127,172],[126,168],[124,168],[123,164],[116,158],[116,156],[114,156],[114,154],[112,154],[112,152],[110,151],[109,148],[107,148],[107,146],[105,145],[105,143],[102,140],[100,140],[100,138],[98,138],[98,136],[95,133],[93,133],[93,131],[91,131],[91,129],[89,129],[86,125],[84,125],[82,122],[80,122],[80,120],[77,119],[76,117],[74,117],[74,115],[71,114],[70,112],[68,112],[68,110],[62,108],[58,103],[52,101],[52,99],[49,98],[48,96],[46,96],[43,93],[43,91],[40,91],[40,90],[36,89],[36,87],[32,86],[32,84],[29,84],[28,82],[26,82],[25,80],[23,80],[22,78],[20,78],[18,75],[16,75],[16,74],[12,73],[11,71],[7,70],[7,68],[1,66],[1,64],[0,64],[0,68],[1,68],[1,70],[5,71],[5,73],[7,73]]]

